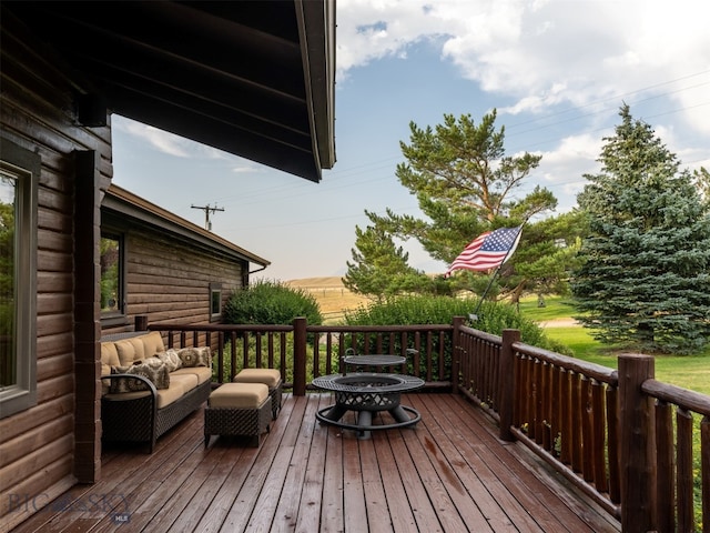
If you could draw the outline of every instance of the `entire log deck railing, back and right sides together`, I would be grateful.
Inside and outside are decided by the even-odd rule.
[[[620,519],[622,531],[710,533],[710,396],[656,381],[653,358],[621,355],[617,372],[524,344],[517,330],[501,336],[474,330],[463,318],[443,325],[326,326],[296,319],[149,329],[163,332],[171,346],[212,346],[217,383],[242,368],[276,368],[295,395],[305,394],[313,378],[341,372],[348,348],[368,354],[414,349],[406,365],[389,370],[465,394],[498,422],[503,440],[527,445]]]

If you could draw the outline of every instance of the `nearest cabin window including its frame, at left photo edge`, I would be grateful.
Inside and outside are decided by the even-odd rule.
[[[37,403],[40,158],[0,142],[0,418],[6,418]]]

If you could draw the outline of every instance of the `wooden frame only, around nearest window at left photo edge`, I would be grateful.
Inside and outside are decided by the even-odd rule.
[[[0,137],[0,170],[16,180],[16,383],[0,388],[0,419],[37,405],[37,233],[41,158]]]

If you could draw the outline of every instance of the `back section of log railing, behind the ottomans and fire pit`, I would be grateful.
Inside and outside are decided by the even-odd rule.
[[[214,381],[231,381],[244,368],[278,369],[286,389],[305,394],[314,378],[342,372],[348,348],[361,354],[407,354],[407,363],[389,369],[422,378],[427,388],[452,386],[452,324],[395,326],[150,324],[170,348],[209,345],[216,365]]]

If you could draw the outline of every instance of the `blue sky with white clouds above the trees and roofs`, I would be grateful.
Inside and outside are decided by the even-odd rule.
[[[364,210],[419,213],[395,177],[410,121],[497,109],[507,153],[542,155],[529,188],[559,212],[623,102],[683,167],[710,169],[708,20],[707,0],[337,0],[337,162],[321,183],[118,115],[113,181],[200,225],[191,205],[224,209],[212,231],[270,260],[257,276],[343,275]],[[446,270],[403,244],[413,266]]]

